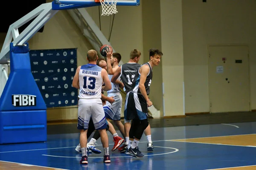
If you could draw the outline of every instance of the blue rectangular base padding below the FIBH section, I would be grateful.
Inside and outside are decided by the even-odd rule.
[[[46,111],[0,112],[0,144],[46,141]]]

